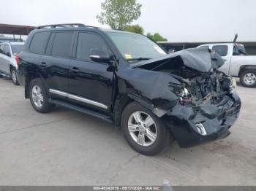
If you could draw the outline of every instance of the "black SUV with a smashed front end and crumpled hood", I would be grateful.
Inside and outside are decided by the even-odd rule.
[[[173,139],[180,147],[222,139],[241,107],[236,81],[206,48],[168,55],[146,36],[64,24],[31,31],[19,58],[37,112],[59,105],[113,122],[144,155]]]

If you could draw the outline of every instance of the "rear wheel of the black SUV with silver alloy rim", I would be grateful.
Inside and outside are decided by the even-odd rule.
[[[49,103],[48,92],[39,78],[33,79],[30,82],[29,98],[34,110],[39,113],[48,113],[54,108],[54,105]]]

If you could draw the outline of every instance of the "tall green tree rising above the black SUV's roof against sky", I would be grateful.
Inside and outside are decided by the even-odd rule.
[[[101,7],[102,12],[96,16],[99,23],[107,24],[113,29],[123,30],[133,20],[140,17],[142,5],[136,0],[105,0]]]

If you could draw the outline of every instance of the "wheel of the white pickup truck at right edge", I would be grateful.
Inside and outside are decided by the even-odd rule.
[[[244,87],[255,87],[256,86],[256,71],[245,70],[240,74],[240,83]]]

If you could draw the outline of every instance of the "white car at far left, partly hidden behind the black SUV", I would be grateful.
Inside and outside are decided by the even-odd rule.
[[[18,69],[18,53],[24,47],[24,42],[0,43],[0,77],[10,77],[14,85],[19,85],[16,77]]]

